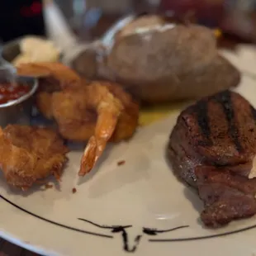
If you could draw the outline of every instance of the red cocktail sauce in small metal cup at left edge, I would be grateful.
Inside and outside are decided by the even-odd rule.
[[[0,104],[5,104],[30,92],[31,88],[18,83],[0,83]]]

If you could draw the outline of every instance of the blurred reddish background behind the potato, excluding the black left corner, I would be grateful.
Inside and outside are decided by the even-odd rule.
[[[205,26],[220,28],[225,36],[256,41],[256,0],[56,0],[70,24],[84,40],[101,36],[129,12],[168,12],[190,15]],[[72,11],[71,11],[72,10]]]

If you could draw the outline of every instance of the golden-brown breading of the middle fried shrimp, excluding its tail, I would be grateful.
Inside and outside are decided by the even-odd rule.
[[[86,141],[95,131],[100,103],[107,97],[121,105],[121,113],[111,135],[112,141],[130,138],[138,126],[139,105],[115,83],[92,82],[86,87],[55,92],[52,97],[53,116],[59,133],[69,140]],[[107,103],[104,106],[107,109]]]

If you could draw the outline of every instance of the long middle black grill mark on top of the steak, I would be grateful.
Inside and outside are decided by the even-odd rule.
[[[223,107],[223,111],[225,113],[225,119],[228,123],[228,133],[230,135],[230,138],[233,140],[233,143],[235,144],[235,148],[239,153],[243,151],[243,147],[239,142],[239,130],[236,126],[235,122],[235,111],[234,106],[231,99],[231,92],[225,91],[222,93],[218,93],[214,96],[216,102],[220,104],[221,107]]]

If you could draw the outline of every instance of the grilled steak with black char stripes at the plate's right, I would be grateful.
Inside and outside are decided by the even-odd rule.
[[[212,227],[256,213],[255,154],[256,111],[230,91],[187,107],[168,143],[174,172],[197,189]]]

